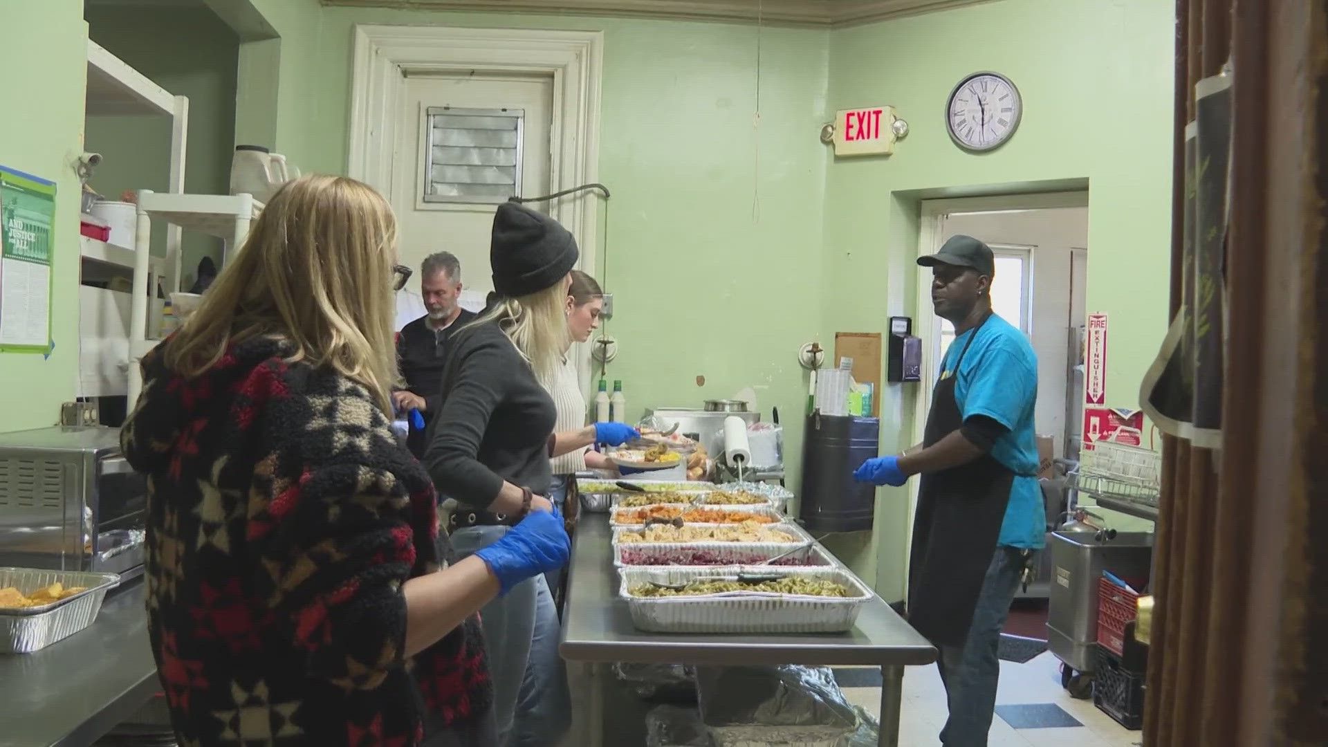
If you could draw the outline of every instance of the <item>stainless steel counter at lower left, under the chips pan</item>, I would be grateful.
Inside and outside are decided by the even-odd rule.
[[[88,747],[158,690],[143,585],[41,651],[0,655],[0,747]]]

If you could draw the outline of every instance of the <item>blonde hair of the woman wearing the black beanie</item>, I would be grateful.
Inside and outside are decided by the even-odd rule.
[[[467,327],[497,322],[534,370],[535,377],[540,383],[552,381],[563,362],[563,351],[571,344],[566,307],[567,283],[562,279],[529,295],[499,298]]]

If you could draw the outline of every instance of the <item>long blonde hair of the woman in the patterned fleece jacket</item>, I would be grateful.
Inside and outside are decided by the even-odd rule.
[[[166,364],[197,376],[227,346],[288,340],[307,360],[364,384],[392,412],[397,225],[388,202],[347,177],[307,175],[283,186],[167,346]]]

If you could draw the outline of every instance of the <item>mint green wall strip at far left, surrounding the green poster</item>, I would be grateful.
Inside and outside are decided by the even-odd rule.
[[[82,3],[4,3],[0,9],[0,163],[57,183],[52,338],[40,355],[0,354],[0,431],[60,421],[78,374],[78,178],[88,77]]]

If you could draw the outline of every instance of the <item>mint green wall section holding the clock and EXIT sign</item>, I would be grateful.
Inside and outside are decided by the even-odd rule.
[[[888,160],[827,158],[822,336],[914,314],[919,197],[1086,181],[1088,310],[1109,314],[1108,400],[1137,407],[1167,322],[1173,19],[1169,0],[1004,0],[835,32],[829,109],[890,104],[911,133]],[[1015,138],[987,156],[955,148],[943,121],[950,90],[977,70],[1009,76],[1025,106]],[[887,424],[883,449],[908,445],[915,391],[887,388],[899,428]],[[898,598],[907,493],[880,494],[876,589]]]

